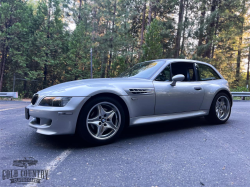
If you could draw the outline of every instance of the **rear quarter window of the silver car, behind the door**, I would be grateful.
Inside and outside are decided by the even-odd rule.
[[[220,76],[213,70],[213,68],[207,65],[196,64],[196,69],[197,69],[199,81],[220,79]]]

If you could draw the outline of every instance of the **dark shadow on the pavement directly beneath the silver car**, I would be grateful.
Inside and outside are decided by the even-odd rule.
[[[137,125],[125,129],[121,137],[114,144],[119,144],[134,138],[151,135],[157,136],[157,134],[171,133],[179,130],[210,125],[211,124],[209,124],[203,117]],[[47,145],[45,146],[47,149],[82,149],[93,147],[84,143],[76,135],[46,136],[34,133],[32,136],[34,136],[32,137],[33,141],[35,139],[35,141],[43,142],[43,144]]]

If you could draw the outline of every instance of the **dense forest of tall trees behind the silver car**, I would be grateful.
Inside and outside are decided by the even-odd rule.
[[[94,78],[185,58],[214,65],[230,88],[248,91],[249,7],[249,0],[0,0],[0,92],[31,97],[90,78],[91,48]]]

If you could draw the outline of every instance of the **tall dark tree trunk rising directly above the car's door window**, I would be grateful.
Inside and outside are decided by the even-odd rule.
[[[177,35],[176,35],[176,39],[175,39],[174,58],[178,58],[179,52],[180,52],[180,41],[181,41],[181,31],[182,31],[183,12],[184,12],[183,1],[184,0],[180,0],[180,6],[179,6],[179,21],[178,21]]]

